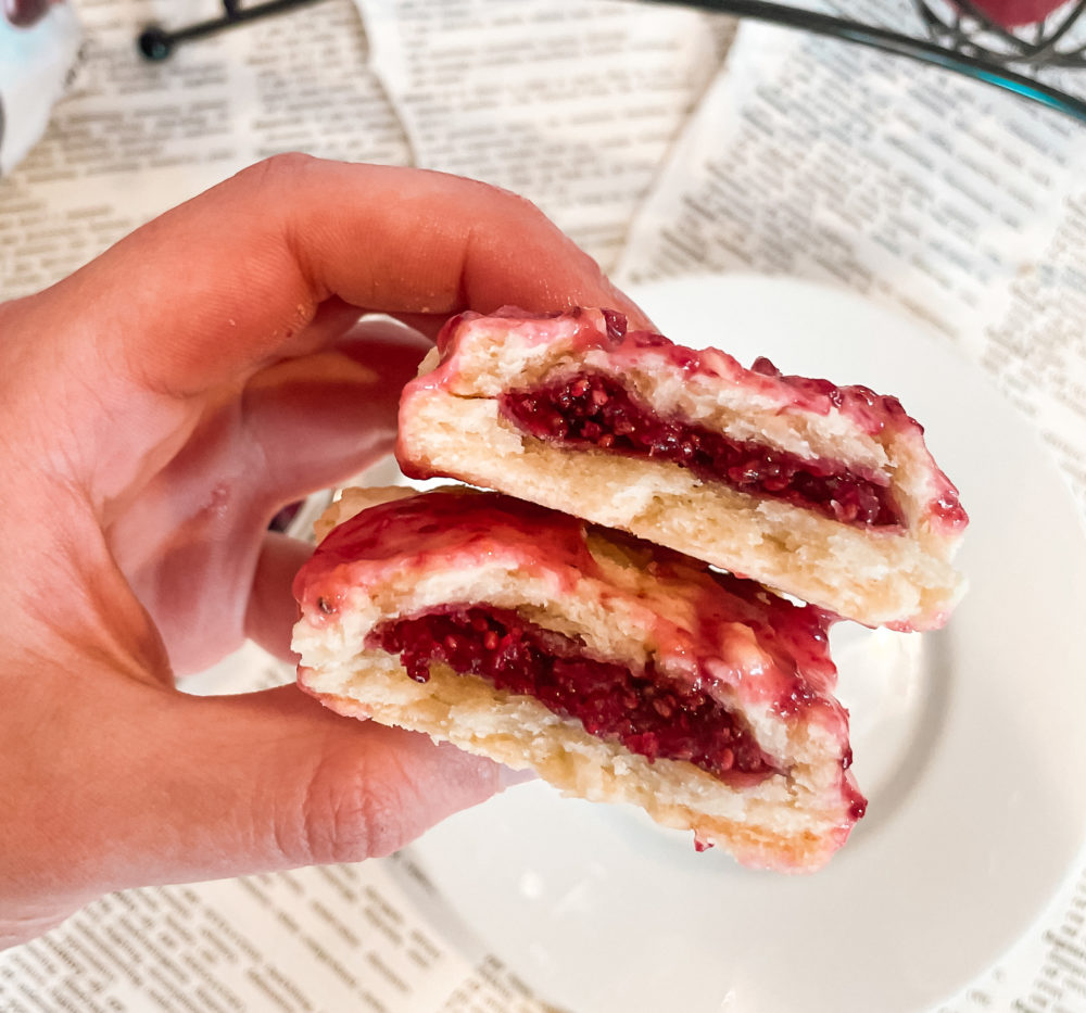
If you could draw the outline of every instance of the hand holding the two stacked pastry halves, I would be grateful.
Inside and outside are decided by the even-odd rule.
[[[248,169],[0,306],[0,945],[103,892],[390,852],[500,769],[294,686],[175,674],[288,653],[285,504],[386,453],[425,342],[503,304],[609,305],[531,205],[412,169]]]

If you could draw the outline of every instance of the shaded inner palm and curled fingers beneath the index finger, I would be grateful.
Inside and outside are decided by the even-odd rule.
[[[287,567],[301,561],[302,546],[274,536],[268,544],[275,512],[391,449],[400,389],[425,350],[404,328],[357,328],[323,352],[258,370],[240,388],[198,400],[163,396],[151,406],[146,423],[168,457],[135,483],[106,534],[176,673],[241,643],[265,548]],[[178,431],[190,435],[169,453]],[[279,584],[277,593],[286,578]],[[274,617],[283,638],[288,607]]]

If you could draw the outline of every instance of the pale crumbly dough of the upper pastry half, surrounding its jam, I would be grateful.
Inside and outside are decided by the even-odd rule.
[[[957,507],[954,486],[893,398],[847,389],[844,407],[835,408],[801,388],[797,394],[790,378],[752,373],[721,353],[702,354],[697,369],[653,347],[619,354],[595,337],[605,330],[599,311],[454,321],[401,401],[401,467],[628,531],[867,625],[943,624],[964,590],[950,561],[964,515],[956,526],[946,522],[939,507],[948,497]],[[502,392],[584,368],[620,378],[664,416],[882,474],[905,523],[853,527],[704,481],[669,461],[570,451],[503,416]]]

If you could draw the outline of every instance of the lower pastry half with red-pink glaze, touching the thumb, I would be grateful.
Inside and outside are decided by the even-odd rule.
[[[346,491],[298,574],[304,689],[749,865],[844,844],[866,803],[821,610],[498,493],[389,492]]]

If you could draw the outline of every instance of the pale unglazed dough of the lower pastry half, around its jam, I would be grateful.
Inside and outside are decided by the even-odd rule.
[[[334,518],[342,522],[374,495],[348,492]],[[369,516],[374,511],[359,521]],[[539,555],[545,557],[556,542],[543,529],[539,534]],[[399,555],[394,565],[382,559],[379,566],[303,570],[295,585],[302,619],[293,644],[302,656],[300,685],[340,713],[422,732],[516,769],[532,768],[570,795],[640,806],[657,822],[692,830],[699,840],[721,846],[746,864],[819,868],[847,838],[862,801],[844,769],[847,717],[830,696],[828,660],[807,685],[809,706],[785,718],[756,692],[759,667],[771,670],[774,662],[749,630],[721,632],[734,641],[721,648],[730,663],[738,666],[744,658],[749,670],[745,681],[742,672],[732,672],[734,684],[720,692],[786,772],[740,787],[687,762],[649,762],[588,734],[579,721],[558,717],[531,697],[495,689],[442,663],[431,664],[428,682],[415,682],[396,657],[366,644],[383,620],[450,602],[480,603],[519,609],[547,629],[579,637],[596,657],[635,669],[654,653],[659,661],[660,645],[675,623],[696,618],[686,611],[697,598],[692,594],[683,600],[670,583],[658,588],[651,560],[632,557],[601,532],[590,529],[584,545],[591,566],[576,573],[560,570],[560,561],[548,569],[553,561],[541,565],[518,555],[520,549],[504,554],[490,543],[473,559],[458,548],[444,558],[420,548]]]

